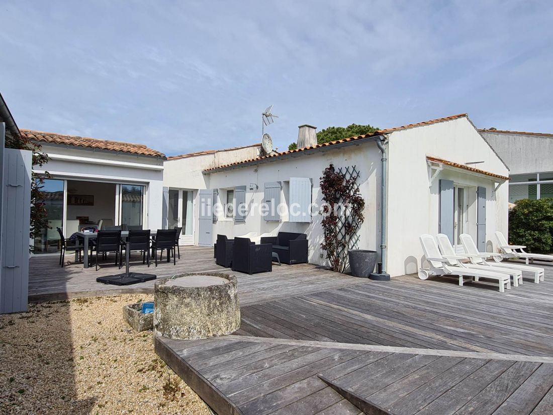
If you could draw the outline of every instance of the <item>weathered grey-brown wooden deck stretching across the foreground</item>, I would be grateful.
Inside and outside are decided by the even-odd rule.
[[[181,257],[158,275],[222,269],[208,248],[181,249]],[[551,414],[553,266],[540,266],[545,282],[524,276],[504,294],[443,278],[372,282],[309,264],[274,266],[238,274],[236,333],[157,338],[155,348],[219,415]],[[44,266],[32,269],[35,295],[63,288],[38,275]],[[103,290],[94,280],[107,269],[64,268],[65,287]]]

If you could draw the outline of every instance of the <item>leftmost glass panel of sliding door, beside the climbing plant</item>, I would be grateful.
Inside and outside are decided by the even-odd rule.
[[[34,252],[59,252],[61,238],[58,228],[64,227],[65,180],[45,179],[41,191],[44,199],[39,201],[41,208],[46,210],[48,226],[41,229],[35,236]],[[64,235],[69,238],[69,235]]]

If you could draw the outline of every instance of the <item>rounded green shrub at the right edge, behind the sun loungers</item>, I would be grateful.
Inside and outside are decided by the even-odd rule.
[[[521,199],[509,212],[509,242],[528,252],[553,250],[553,199]]]

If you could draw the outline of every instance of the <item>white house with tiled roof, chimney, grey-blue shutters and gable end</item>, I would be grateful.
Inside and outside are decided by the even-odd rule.
[[[315,137],[301,126],[299,136]],[[217,234],[228,237],[250,231],[303,232],[309,239],[309,261],[325,264],[319,181],[323,170],[359,171],[359,189],[366,200],[358,247],[385,246],[384,268],[392,276],[414,273],[421,265],[418,237],[443,232],[459,246],[458,235],[471,234],[481,250],[497,249],[494,231],[507,232],[508,169],[466,114],[390,128],[294,151],[264,155],[237,152],[226,164],[212,153],[185,155],[165,162],[164,186],[191,191],[194,243],[211,246]],[[382,236],[382,146],[387,153]],[[242,149],[243,150],[243,149]],[[238,157],[239,156],[239,157]],[[206,157],[205,159],[203,157]],[[212,163],[208,167],[206,164]],[[202,170],[202,174],[200,174]],[[188,197],[188,196],[187,196]],[[171,200],[182,211],[183,196]],[[189,200],[189,199],[186,199]],[[215,204],[233,209],[213,213]],[[256,206],[295,205],[262,216]],[[247,207],[247,213],[238,209]],[[311,210],[310,210],[311,207]],[[269,209],[271,210],[271,209]],[[178,215],[177,215],[178,217]]]

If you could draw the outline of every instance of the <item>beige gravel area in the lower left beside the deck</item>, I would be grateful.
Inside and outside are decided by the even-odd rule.
[[[145,295],[30,304],[0,315],[0,413],[199,414],[205,403],[136,333],[125,304]]]

